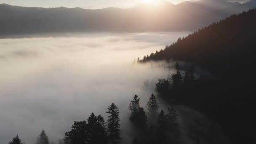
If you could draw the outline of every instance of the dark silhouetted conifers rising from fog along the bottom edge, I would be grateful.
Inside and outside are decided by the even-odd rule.
[[[147,101],[147,114],[140,106],[139,96],[133,96],[129,107],[129,120],[139,135],[131,139],[131,144],[166,144],[180,143],[179,123],[173,108],[165,112],[159,111],[157,98],[154,94]],[[101,115],[93,112],[87,121],[74,121],[72,129],[65,132],[64,139],[59,139],[58,144],[120,144],[120,118],[119,109],[112,103],[107,108],[108,120],[105,122]],[[171,137],[170,137],[171,136]],[[9,144],[24,144],[17,134]],[[56,144],[49,141],[43,129],[35,144]]]

